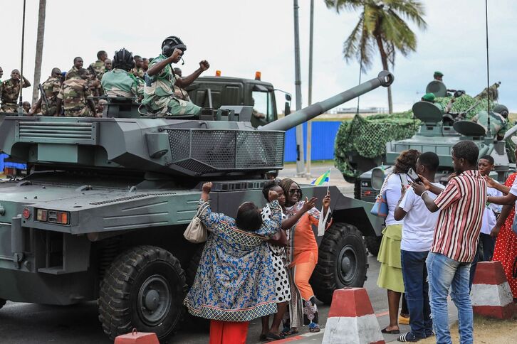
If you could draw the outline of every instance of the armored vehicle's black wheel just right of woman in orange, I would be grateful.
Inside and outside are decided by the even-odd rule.
[[[335,222],[320,244],[318,265],[310,284],[315,296],[330,304],[335,289],[362,286],[367,269],[367,252],[361,232],[348,223]]]

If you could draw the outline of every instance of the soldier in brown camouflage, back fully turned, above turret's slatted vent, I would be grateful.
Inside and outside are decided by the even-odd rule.
[[[63,104],[66,117],[93,117],[95,104],[92,100],[87,99],[90,96],[86,70],[71,70],[66,75],[66,81],[61,85],[58,94],[57,112],[61,112],[61,104]]]

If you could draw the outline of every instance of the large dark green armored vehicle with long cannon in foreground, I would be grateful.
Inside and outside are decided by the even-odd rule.
[[[167,338],[184,314],[202,244],[182,236],[204,181],[211,207],[234,216],[263,204],[265,173],[283,168],[285,131],[377,87],[378,77],[258,129],[251,107],[198,116],[142,117],[114,98],[103,118],[1,117],[0,151],[27,163],[0,183],[0,307],[6,300],[69,305],[98,300],[104,332],[132,328]],[[302,186],[320,200],[326,187]],[[330,187],[333,225],[319,238],[312,284],[321,301],[362,286],[369,203]]]

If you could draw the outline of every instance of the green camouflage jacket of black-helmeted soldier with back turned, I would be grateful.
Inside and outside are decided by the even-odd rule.
[[[105,72],[101,85],[106,95],[110,97],[136,97],[141,99],[144,96],[142,80],[119,68]]]

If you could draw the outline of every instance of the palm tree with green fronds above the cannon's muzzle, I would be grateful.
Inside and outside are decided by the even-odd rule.
[[[329,9],[362,9],[355,28],[343,44],[347,62],[357,58],[364,72],[372,66],[373,54],[379,50],[382,68],[395,65],[395,53],[403,56],[417,49],[417,36],[404,19],[409,19],[424,30],[424,6],[414,0],[324,0]],[[393,112],[392,91],[388,87],[388,107]]]

